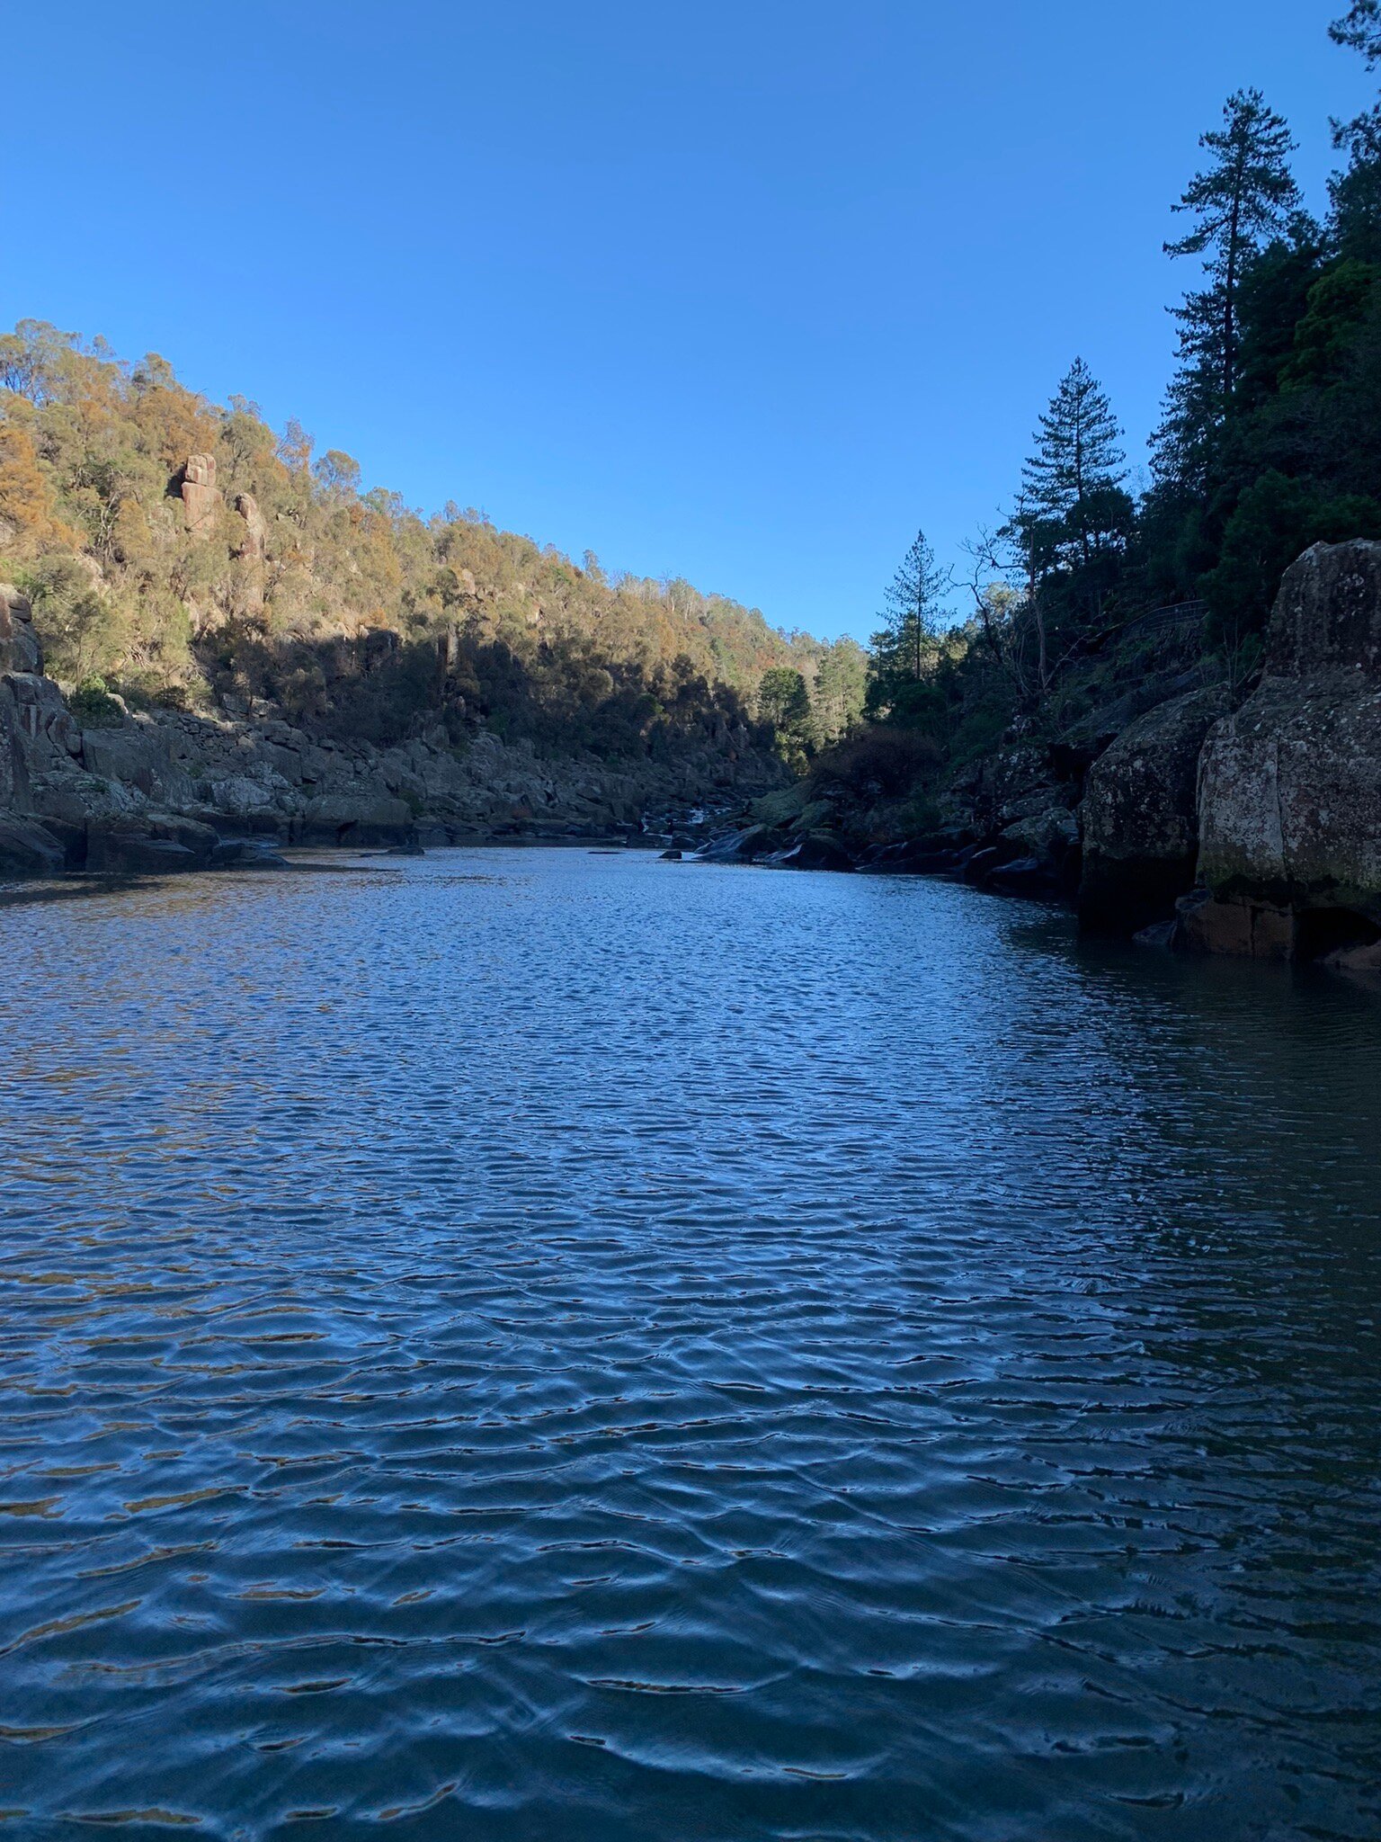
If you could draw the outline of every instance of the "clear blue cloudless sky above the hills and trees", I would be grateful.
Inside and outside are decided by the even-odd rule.
[[[1322,204],[1372,90],[1342,6],[11,7],[0,319],[160,352],[427,510],[864,635],[1075,352],[1140,460],[1195,138],[1261,85]]]

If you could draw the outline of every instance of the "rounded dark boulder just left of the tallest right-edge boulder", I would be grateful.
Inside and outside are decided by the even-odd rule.
[[[1088,770],[1079,921],[1136,934],[1175,912],[1199,851],[1199,753],[1226,709],[1191,691],[1131,722]]]

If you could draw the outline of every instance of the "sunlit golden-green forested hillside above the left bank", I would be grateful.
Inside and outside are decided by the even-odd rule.
[[[261,700],[372,742],[440,715],[457,739],[628,755],[772,722],[783,683],[790,748],[841,735],[862,704],[851,641],[589,553],[576,565],[457,505],[424,516],[296,424],[274,435],[157,356],[123,363],[33,321],[0,337],[0,578],[31,597],[50,670],[88,713],[112,691]]]

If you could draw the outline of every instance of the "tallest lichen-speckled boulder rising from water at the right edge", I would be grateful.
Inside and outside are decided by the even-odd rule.
[[[1381,543],[1315,543],[1287,569],[1258,691],[1199,774],[1184,945],[1317,958],[1381,938]]]

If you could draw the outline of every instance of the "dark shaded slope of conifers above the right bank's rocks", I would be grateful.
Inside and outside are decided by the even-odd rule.
[[[1374,70],[1381,0],[1331,37]],[[1381,538],[1381,105],[1333,138],[1318,221],[1289,125],[1258,90],[1228,98],[1171,204],[1166,252],[1190,287],[1149,488],[1132,494],[1116,405],[1075,357],[965,569],[937,569],[924,536],[902,562],[867,709],[910,753],[854,742],[840,764],[860,787],[910,775],[924,805],[1004,739],[1075,774],[1175,691],[1239,702],[1282,571],[1311,543]]]

